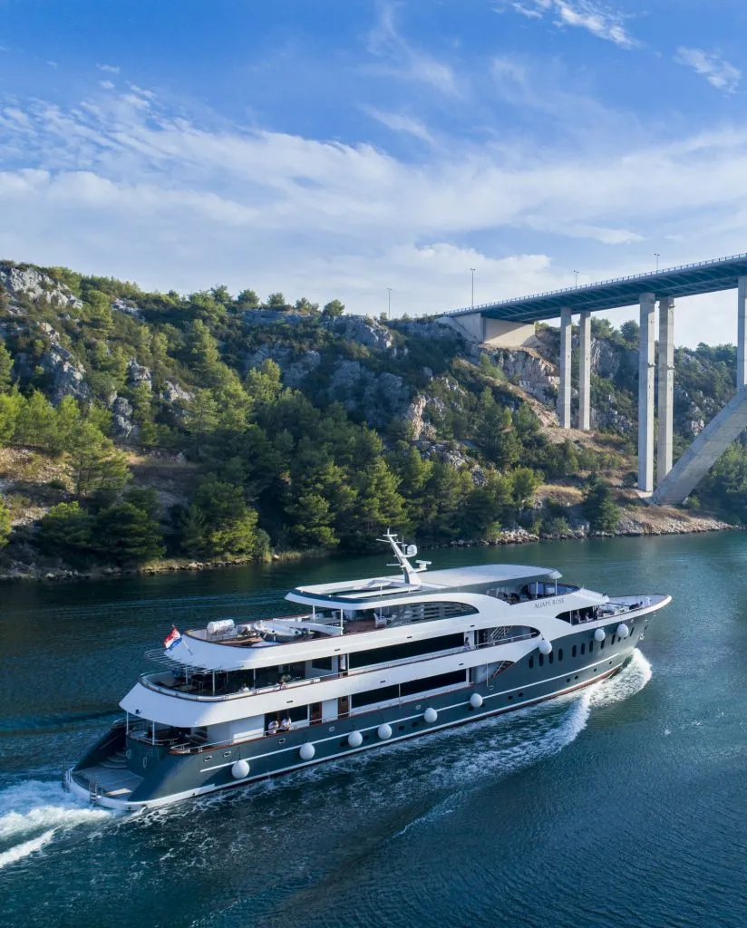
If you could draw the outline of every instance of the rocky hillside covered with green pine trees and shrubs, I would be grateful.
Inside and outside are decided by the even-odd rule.
[[[0,263],[8,564],[130,566],[614,531],[634,506],[638,329],[594,328],[596,438],[553,428],[557,332],[487,352],[330,300],[182,296]],[[676,354],[682,450],[733,392],[731,346]],[[735,445],[695,506],[747,518]]]

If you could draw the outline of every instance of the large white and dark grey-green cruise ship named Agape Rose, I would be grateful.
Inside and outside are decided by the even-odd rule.
[[[301,614],[174,628],[65,785],[135,811],[532,705],[618,672],[671,599],[517,564],[431,571],[381,540],[396,574],[299,586]]]

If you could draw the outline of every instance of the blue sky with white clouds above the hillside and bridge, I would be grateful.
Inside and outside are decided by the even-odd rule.
[[[488,303],[747,251],[746,33],[743,0],[0,0],[0,257],[419,316],[471,268]]]

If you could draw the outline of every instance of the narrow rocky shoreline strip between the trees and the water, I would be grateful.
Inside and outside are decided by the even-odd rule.
[[[689,516],[679,511],[676,514],[645,512],[645,518],[636,518],[641,510],[623,509],[620,524],[614,532],[590,532],[586,527],[571,529],[565,534],[535,534],[524,528],[507,529],[494,540],[458,539],[443,545],[431,545],[431,550],[444,548],[501,548],[513,545],[541,544],[546,541],[586,541],[590,538],[661,537],[663,535],[702,535],[709,532],[740,532],[745,526],[722,522],[715,516]],[[635,514],[634,514],[635,512]],[[653,518],[651,516],[653,515]],[[76,581],[114,580],[132,576],[156,576],[158,574],[197,574],[202,571],[227,570],[232,567],[284,563],[286,561],[320,560],[340,556],[341,552],[324,548],[307,551],[278,551],[264,559],[232,558],[216,561],[195,561],[187,558],[167,558],[163,561],[144,564],[140,567],[97,567],[90,570],[74,568],[19,565],[18,569],[0,571],[0,584],[12,583],[73,583]],[[342,555],[344,557],[344,555]]]

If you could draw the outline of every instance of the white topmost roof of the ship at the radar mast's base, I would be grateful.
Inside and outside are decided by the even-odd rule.
[[[548,567],[527,564],[481,564],[443,571],[406,572],[365,580],[297,586],[286,599],[309,606],[345,612],[371,609],[386,599],[420,599],[436,593],[479,593],[491,586],[514,586],[559,580],[561,574]]]

